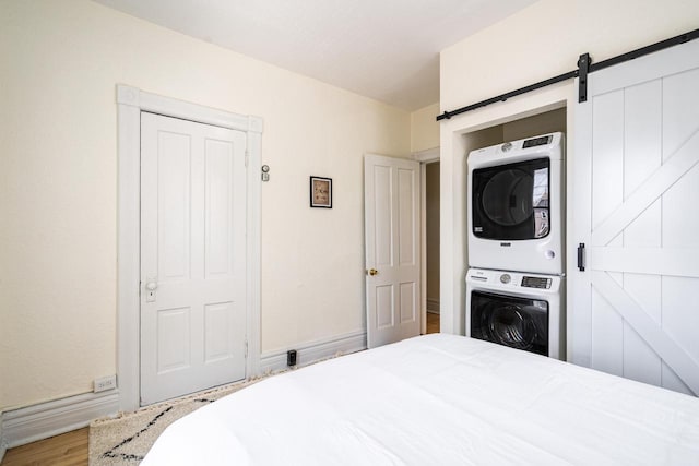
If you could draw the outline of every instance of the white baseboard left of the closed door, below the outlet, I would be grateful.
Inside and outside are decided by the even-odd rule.
[[[119,392],[85,393],[2,414],[0,433],[7,449],[83,428],[119,411]]]

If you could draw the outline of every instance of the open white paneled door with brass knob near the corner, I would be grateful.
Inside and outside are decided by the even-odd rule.
[[[364,158],[367,345],[419,335],[419,164]]]

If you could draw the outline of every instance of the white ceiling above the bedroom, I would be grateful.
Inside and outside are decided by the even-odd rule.
[[[94,0],[407,110],[439,100],[439,51],[535,0]]]

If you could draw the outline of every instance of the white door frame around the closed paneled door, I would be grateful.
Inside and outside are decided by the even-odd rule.
[[[119,408],[140,406],[141,111],[181,118],[247,134],[247,377],[260,367],[260,166],[262,119],[190,104],[117,85],[118,252],[117,375]]]

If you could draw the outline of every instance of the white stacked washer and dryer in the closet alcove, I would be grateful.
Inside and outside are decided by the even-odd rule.
[[[466,335],[565,360],[562,133],[469,154]]]

